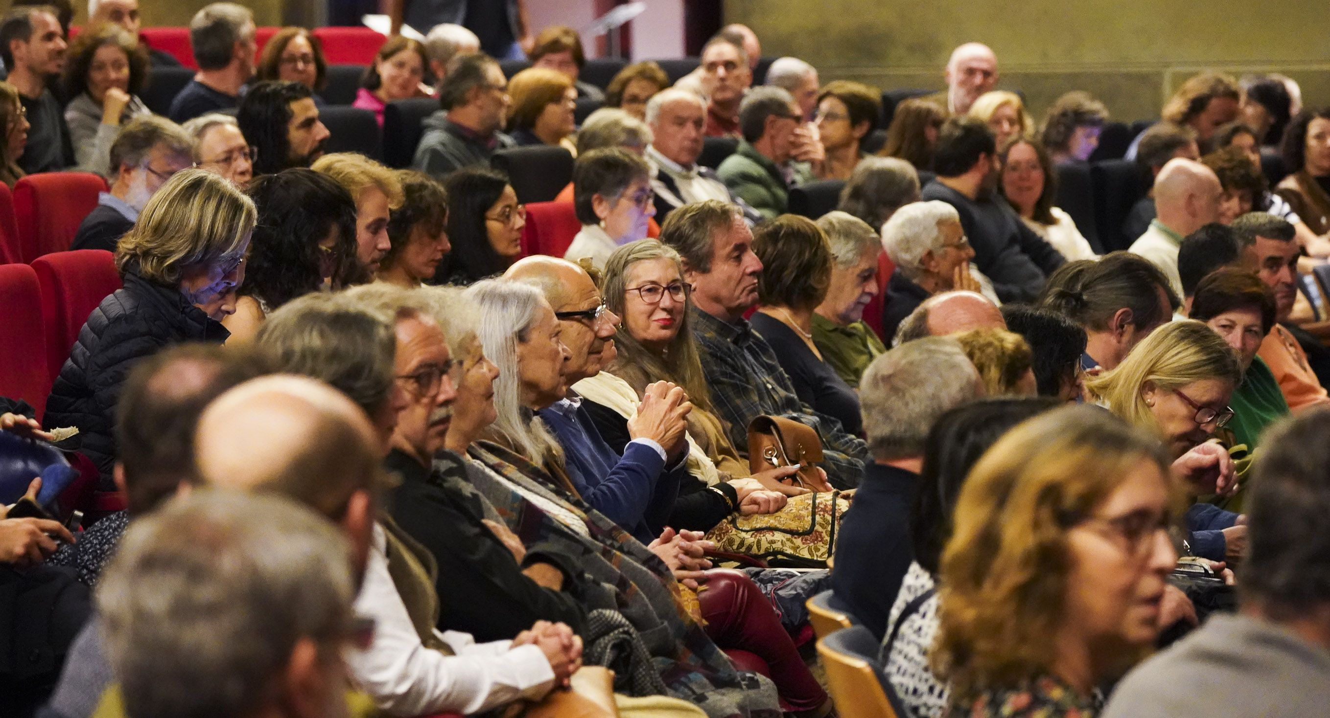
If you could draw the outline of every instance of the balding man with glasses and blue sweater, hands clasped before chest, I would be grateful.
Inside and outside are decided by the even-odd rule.
[[[688,472],[685,433],[693,406],[682,388],[653,384],[628,423],[628,445],[610,447],[569,387],[595,376],[614,359],[618,316],[605,307],[591,275],[565,259],[528,257],[509,267],[504,278],[544,293],[559,320],[559,342],[567,347],[563,382],[553,391],[532,396],[528,408],[563,445],[568,477],[577,493],[640,541],[650,542],[665,527]],[[517,362],[524,360],[539,358],[519,354]]]

